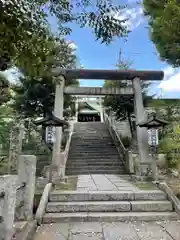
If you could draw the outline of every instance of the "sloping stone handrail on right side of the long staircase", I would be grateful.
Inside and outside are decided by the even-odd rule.
[[[111,123],[111,120],[109,118],[109,116],[103,112],[103,117],[104,117],[104,122],[105,124],[108,126],[110,135],[115,143],[115,146],[118,150],[118,153],[123,161],[123,164],[126,168],[127,171],[130,170],[130,158],[129,158],[129,151],[128,149],[126,149],[123,145],[123,142],[121,141],[121,138],[119,136],[119,134],[117,133],[115,127],[113,126],[113,124]]]

